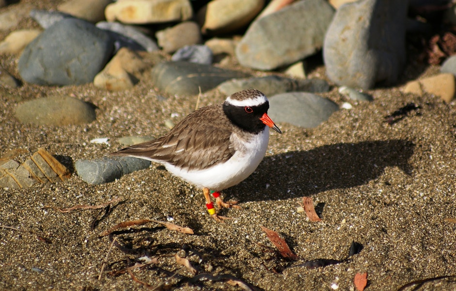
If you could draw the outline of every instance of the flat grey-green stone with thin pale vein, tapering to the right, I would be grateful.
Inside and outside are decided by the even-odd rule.
[[[181,61],[161,63],[152,69],[153,84],[170,95],[197,95],[199,88],[204,92],[223,81],[246,77],[243,72]]]

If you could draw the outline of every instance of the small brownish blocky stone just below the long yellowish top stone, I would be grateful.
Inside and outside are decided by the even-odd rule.
[[[185,21],[155,33],[158,46],[167,53],[202,42],[200,27],[196,22]]]

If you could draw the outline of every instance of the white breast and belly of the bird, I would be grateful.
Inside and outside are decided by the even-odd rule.
[[[269,128],[259,134],[252,135],[248,140],[232,135],[236,152],[228,161],[219,163],[204,170],[183,170],[166,164],[168,171],[183,178],[199,188],[209,188],[220,191],[234,186],[247,177],[258,167],[263,160],[267,144],[269,143]]]

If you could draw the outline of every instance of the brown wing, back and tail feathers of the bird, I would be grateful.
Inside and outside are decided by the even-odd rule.
[[[126,147],[112,155],[169,162],[188,169],[205,169],[225,162],[233,156],[235,149],[230,142],[230,127],[220,122],[220,118],[215,118],[223,116],[215,106],[188,115],[168,134],[156,140]]]

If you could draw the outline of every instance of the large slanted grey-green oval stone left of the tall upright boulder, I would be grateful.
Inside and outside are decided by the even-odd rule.
[[[334,9],[326,0],[297,1],[255,20],[236,47],[244,66],[272,70],[293,64],[323,46]]]

